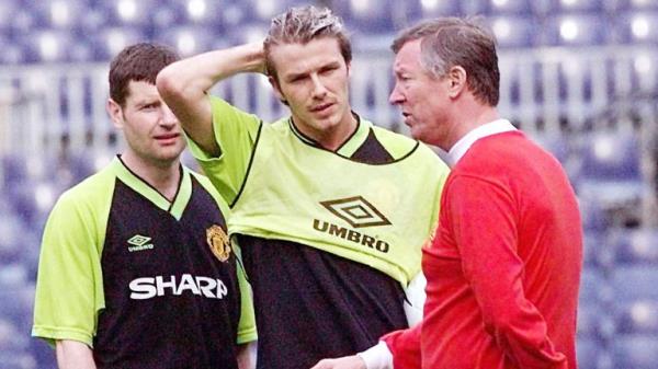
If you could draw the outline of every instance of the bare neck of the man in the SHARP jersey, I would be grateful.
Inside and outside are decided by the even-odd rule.
[[[180,161],[147,161],[128,151],[121,155],[124,164],[172,201],[181,180]]]

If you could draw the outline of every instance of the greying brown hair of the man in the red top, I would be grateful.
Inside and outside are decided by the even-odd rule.
[[[479,18],[440,18],[404,30],[393,42],[395,54],[405,44],[421,39],[420,62],[431,76],[441,78],[453,67],[466,70],[473,94],[490,106],[500,99],[500,71],[496,37]]]

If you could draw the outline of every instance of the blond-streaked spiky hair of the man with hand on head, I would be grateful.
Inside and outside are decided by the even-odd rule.
[[[272,19],[268,37],[263,43],[265,69],[276,79],[276,68],[272,61],[272,47],[280,44],[306,44],[315,38],[334,37],[345,62],[352,60],[352,46],[341,19],[327,8],[313,5],[296,7]]]

